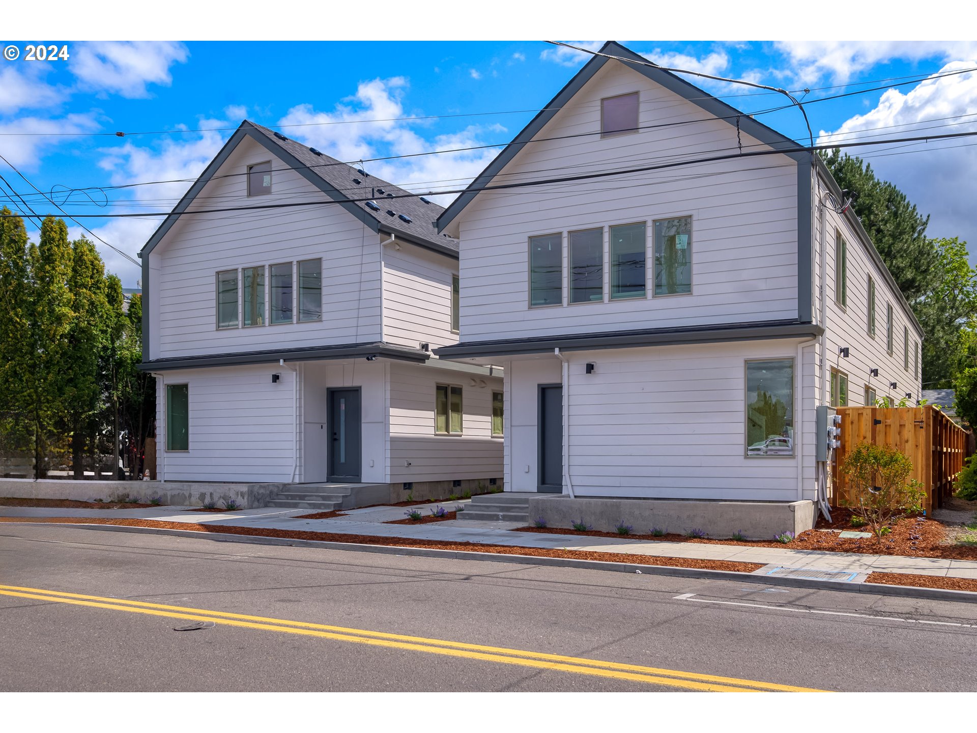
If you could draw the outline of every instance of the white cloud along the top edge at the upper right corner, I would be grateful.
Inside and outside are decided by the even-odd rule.
[[[778,41],[775,46],[804,82],[824,76],[846,82],[872,65],[896,59],[947,62],[977,57],[975,41]]]

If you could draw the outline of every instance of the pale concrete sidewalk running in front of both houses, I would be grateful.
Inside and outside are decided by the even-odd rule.
[[[765,567],[758,574],[782,572],[790,568],[822,573],[846,573],[851,582],[862,582],[872,571],[883,573],[911,573],[915,575],[977,579],[977,561],[943,560],[930,557],[901,557],[787,547],[743,547],[735,544],[700,544],[645,539],[579,537],[530,532],[511,532],[521,526],[516,522],[437,522],[423,525],[384,524],[404,519],[408,509],[418,509],[428,515],[436,506],[452,511],[466,500],[442,501],[412,507],[377,506],[351,509],[345,516],[333,519],[302,519],[308,509],[243,509],[234,512],[196,512],[188,507],[160,506],[147,509],[41,509],[19,506],[0,506],[0,516],[6,517],[103,517],[106,519],[156,519],[168,522],[197,524],[226,524],[240,527],[260,527],[276,530],[331,532],[339,535],[372,535],[404,539],[440,539],[452,542],[518,545],[556,549],[617,552],[658,557],[683,557],[701,560],[732,560],[760,563]],[[833,580],[845,580],[834,577]]]

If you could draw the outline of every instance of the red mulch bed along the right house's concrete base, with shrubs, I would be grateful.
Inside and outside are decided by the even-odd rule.
[[[940,557],[950,560],[977,560],[977,546],[944,544],[947,532],[939,522],[922,517],[908,517],[893,524],[892,532],[879,542],[874,537],[866,539],[841,539],[835,533],[820,530],[837,529],[865,532],[864,527],[852,527],[851,511],[832,509],[831,523],[822,519],[813,530],[798,535],[792,542],[776,539],[695,539],[684,535],[618,535],[616,532],[577,532],[554,527],[520,527],[513,532],[541,532],[553,535],[579,535],[584,537],[613,537],[625,539],[651,539],[669,542],[699,542],[701,544],[737,544],[743,547],[786,547],[788,549],[813,549],[819,552],[859,552],[869,555],[904,555],[908,557]]]

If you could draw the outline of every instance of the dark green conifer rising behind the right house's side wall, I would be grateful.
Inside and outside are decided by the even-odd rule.
[[[837,148],[822,158],[838,185],[858,194],[852,208],[906,299],[912,303],[928,293],[937,264],[936,247],[926,237],[929,216],[893,184],[876,178],[861,158]]]

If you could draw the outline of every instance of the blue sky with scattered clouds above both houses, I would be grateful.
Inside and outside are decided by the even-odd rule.
[[[850,140],[898,137],[920,128],[933,134],[977,130],[971,123],[977,121],[977,72],[923,81],[941,70],[977,66],[977,42],[621,42],[661,65],[789,90],[807,87],[812,91],[806,102],[911,77],[912,83],[887,91],[810,105],[814,134],[822,142],[832,134]],[[10,43],[23,51],[24,42],[3,45]],[[59,202],[65,189],[192,179],[230,136],[231,130],[221,128],[233,129],[245,116],[269,126],[299,125],[282,131],[344,160],[504,144],[586,60],[585,54],[537,41],[50,43],[66,44],[69,59],[31,63],[21,55],[18,61],[0,61],[0,154],[42,191],[55,188]],[[600,46],[600,41],[573,43]],[[783,104],[777,95],[686,78],[746,112]],[[428,115],[435,118],[403,119]],[[760,119],[806,142],[795,109]],[[116,137],[115,131],[126,136]],[[148,132],[160,134],[138,134]],[[498,150],[377,161],[368,167],[411,190],[453,189]],[[961,140],[859,154],[932,215],[931,236],[966,238],[974,252],[974,151],[977,147]],[[52,211],[2,161],[0,175],[36,211]],[[99,204],[107,199],[106,206],[73,193],[64,207],[85,214],[165,211],[189,185],[89,192]],[[132,255],[158,223],[82,221]],[[137,268],[100,249],[109,269],[134,285]]]

